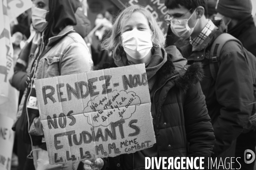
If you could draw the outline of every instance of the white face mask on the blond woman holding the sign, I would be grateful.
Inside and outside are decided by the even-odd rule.
[[[153,47],[151,34],[133,29],[122,34],[122,46],[133,59],[143,59]]]

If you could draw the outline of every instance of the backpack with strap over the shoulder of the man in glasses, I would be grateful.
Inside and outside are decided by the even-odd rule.
[[[236,41],[242,46],[244,57],[246,58],[247,64],[250,68],[250,72],[253,79],[254,101],[252,101],[252,105],[253,105],[252,115],[254,115],[256,113],[256,103],[255,103],[256,102],[255,101],[256,99],[256,57],[253,54],[251,54],[249,51],[247,51],[238,39],[236,39],[230,34],[224,33],[219,35],[212,44],[210,55],[209,55],[209,62],[210,62],[209,66],[210,66],[212,78],[214,79],[214,81],[216,81],[218,69],[221,64],[221,57],[220,57],[221,49],[229,41]]]

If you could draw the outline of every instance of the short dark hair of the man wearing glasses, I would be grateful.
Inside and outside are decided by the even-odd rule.
[[[184,6],[185,8],[192,9],[191,12],[195,11],[198,6],[204,7],[204,15],[207,17],[207,0],[165,0],[165,6],[168,9],[180,8]]]

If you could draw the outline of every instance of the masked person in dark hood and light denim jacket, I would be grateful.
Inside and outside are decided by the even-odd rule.
[[[16,130],[25,143],[32,144],[35,169],[76,170],[78,163],[50,165],[44,131],[38,109],[29,107],[28,99],[35,95],[35,79],[77,74],[92,70],[93,61],[89,49],[73,29],[79,0],[32,0],[32,24],[42,36],[35,50],[26,50],[29,55],[26,72],[26,88],[19,107]],[[23,67],[23,71],[24,71]],[[25,76],[26,77],[26,76]],[[23,79],[24,80],[24,79]],[[29,122],[27,115],[29,116]],[[29,125],[29,132],[28,132]]]

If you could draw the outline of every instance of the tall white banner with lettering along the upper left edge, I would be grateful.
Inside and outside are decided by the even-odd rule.
[[[0,1],[0,23],[0,114],[15,119],[19,92],[9,83],[14,74],[14,65],[6,0]]]

